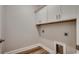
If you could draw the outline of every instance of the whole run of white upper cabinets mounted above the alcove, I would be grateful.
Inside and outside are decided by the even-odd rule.
[[[36,13],[36,20],[41,23],[77,18],[76,9],[76,5],[48,5]]]

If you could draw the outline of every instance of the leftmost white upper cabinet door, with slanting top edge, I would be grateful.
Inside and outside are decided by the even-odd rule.
[[[43,22],[47,20],[47,6],[36,13],[36,20],[37,22]]]

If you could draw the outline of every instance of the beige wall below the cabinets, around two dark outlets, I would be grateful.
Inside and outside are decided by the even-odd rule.
[[[75,53],[76,48],[76,23],[66,22],[41,26],[41,43],[54,50],[54,41],[66,44],[66,53]],[[42,30],[45,32],[43,33]],[[65,36],[64,33],[68,33]]]

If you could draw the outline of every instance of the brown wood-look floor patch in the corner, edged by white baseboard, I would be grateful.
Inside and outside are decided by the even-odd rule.
[[[36,48],[32,48],[27,51],[22,51],[17,54],[49,54],[49,52],[43,49],[42,47],[38,46]]]

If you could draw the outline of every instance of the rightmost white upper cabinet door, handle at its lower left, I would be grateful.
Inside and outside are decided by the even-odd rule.
[[[61,19],[73,19],[76,18],[76,6],[74,5],[63,5],[61,6]]]

